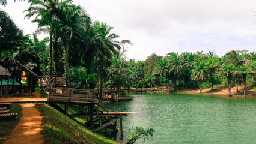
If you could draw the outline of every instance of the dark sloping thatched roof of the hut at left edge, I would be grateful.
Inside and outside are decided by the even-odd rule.
[[[0,65],[4,68],[8,67],[18,67],[20,70],[25,71],[29,76],[37,77],[37,74],[35,74],[32,70],[30,70],[28,67],[25,67],[24,65],[20,64],[19,61],[16,59],[13,59],[11,57],[7,57],[0,60]]]

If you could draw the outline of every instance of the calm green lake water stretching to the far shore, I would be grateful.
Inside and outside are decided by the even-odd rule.
[[[112,139],[129,129],[154,128],[145,143],[256,143],[256,99],[183,94],[129,94],[133,101],[107,104],[111,111],[137,112],[123,118]],[[120,125],[118,124],[118,127]],[[142,139],[136,143],[142,143]]]

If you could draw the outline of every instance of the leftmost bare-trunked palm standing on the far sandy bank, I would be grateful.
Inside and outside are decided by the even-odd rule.
[[[191,78],[192,80],[200,81],[200,94],[202,93],[202,83],[208,76],[209,76],[209,71],[206,68],[206,62],[205,61],[196,62],[192,69]]]

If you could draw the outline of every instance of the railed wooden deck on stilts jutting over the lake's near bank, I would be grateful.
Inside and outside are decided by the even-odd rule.
[[[99,131],[102,128],[112,128],[118,131],[117,121],[120,121],[120,131],[123,135],[123,116],[135,112],[109,112],[108,109],[100,102],[99,98],[95,95],[95,90],[92,89],[74,89],[74,88],[46,88],[48,91],[48,103],[64,103],[66,115],[70,117],[85,117],[87,122],[85,125]],[[77,113],[75,115],[68,115],[69,105],[86,105],[87,112]],[[99,106],[106,112],[102,112]]]

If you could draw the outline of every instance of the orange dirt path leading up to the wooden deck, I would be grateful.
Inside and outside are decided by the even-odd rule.
[[[40,134],[43,117],[40,116],[40,112],[34,104],[20,104],[20,106],[23,116],[11,132],[10,139],[4,144],[43,143],[43,136]]]

